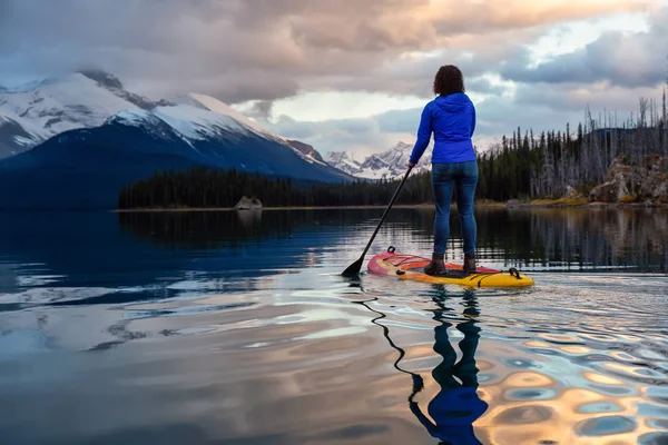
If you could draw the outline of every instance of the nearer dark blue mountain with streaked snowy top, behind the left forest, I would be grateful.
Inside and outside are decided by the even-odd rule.
[[[135,108],[0,160],[0,208],[111,209],[124,185],[197,165],[302,181],[352,180],[230,116],[190,105]]]

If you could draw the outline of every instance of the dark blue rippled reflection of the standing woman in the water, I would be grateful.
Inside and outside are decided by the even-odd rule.
[[[478,419],[488,408],[488,404],[478,397],[478,368],[475,367],[475,348],[480,339],[480,328],[477,326],[475,316],[480,314],[477,309],[473,296],[465,297],[466,308],[465,322],[459,323],[455,328],[459,329],[464,338],[459,346],[462,352],[461,360],[455,364],[456,353],[450,344],[448,328],[451,323],[443,320],[443,313],[451,310],[443,304],[442,298],[434,297],[434,303],[439,307],[434,310],[434,319],[441,322],[434,329],[435,344],[434,350],[443,357],[443,360],[432,372],[432,376],[441,386],[439,394],[429,403],[429,415],[434,419],[432,423],[420,409],[416,402],[413,402],[415,393],[422,389],[421,378],[415,385],[413,379],[413,394],[409,397],[411,412],[424,425],[429,433],[442,441],[441,444],[480,444],[473,432],[473,422]],[[454,377],[458,377],[458,382]]]

